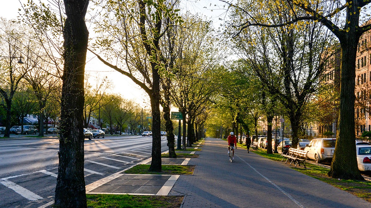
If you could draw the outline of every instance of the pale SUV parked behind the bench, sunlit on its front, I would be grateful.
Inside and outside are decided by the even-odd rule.
[[[316,138],[304,150],[308,151],[307,157],[317,163],[330,162],[334,156],[335,142],[336,138]]]

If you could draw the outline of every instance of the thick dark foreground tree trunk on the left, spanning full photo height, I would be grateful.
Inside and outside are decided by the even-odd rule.
[[[86,207],[84,180],[84,71],[88,28],[84,21],[89,0],[64,0],[65,49],[61,99],[59,167],[54,207]]]

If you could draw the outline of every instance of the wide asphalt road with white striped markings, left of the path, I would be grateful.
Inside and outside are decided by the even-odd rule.
[[[162,137],[162,152],[167,140]],[[152,137],[85,139],[86,185],[151,157]],[[57,138],[0,140],[0,207],[40,207],[53,201]]]

